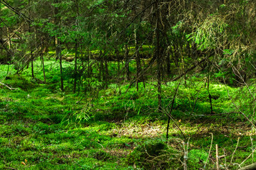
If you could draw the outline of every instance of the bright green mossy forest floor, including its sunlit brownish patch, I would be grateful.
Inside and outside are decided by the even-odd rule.
[[[43,79],[41,63],[35,63],[36,77]],[[0,169],[183,169],[184,157],[188,169],[200,169],[206,163],[206,169],[215,169],[216,144],[218,154],[226,156],[219,166],[237,169],[255,148],[250,138],[255,131],[241,115],[200,116],[210,113],[203,76],[180,85],[166,140],[165,112],[169,112],[177,81],[162,86],[164,110],[160,113],[154,83],[145,88],[140,83],[139,91],[135,86],[127,91],[129,84],[101,89],[95,80],[91,88],[97,93],[78,95],[60,91],[53,63],[46,61],[48,84],[31,79],[28,69],[3,81],[18,89],[0,89]],[[1,65],[1,73],[6,70]],[[228,93],[238,98],[240,91],[218,82],[210,84],[213,111],[234,111]],[[21,164],[25,159],[26,166]],[[252,157],[242,165],[250,162]]]

